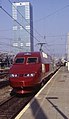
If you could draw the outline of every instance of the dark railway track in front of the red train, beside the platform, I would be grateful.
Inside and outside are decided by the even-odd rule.
[[[33,95],[26,97],[11,97],[0,104],[0,119],[14,119],[14,117],[33,98]]]

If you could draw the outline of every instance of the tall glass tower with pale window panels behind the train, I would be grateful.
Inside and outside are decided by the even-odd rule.
[[[15,52],[34,51],[33,11],[30,2],[13,3],[13,49]]]

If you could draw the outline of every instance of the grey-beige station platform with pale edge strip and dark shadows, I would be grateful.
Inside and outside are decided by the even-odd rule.
[[[69,71],[61,67],[15,119],[69,119]]]

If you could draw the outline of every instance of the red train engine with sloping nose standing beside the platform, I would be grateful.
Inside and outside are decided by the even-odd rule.
[[[31,93],[43,83],[50,71],[50,57],[43,52],[18,53],[9,71],[9,81],[15,93]]]

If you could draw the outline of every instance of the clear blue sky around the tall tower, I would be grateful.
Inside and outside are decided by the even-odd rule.
[[[28,0],[10,0],[23,2]],[[57,57],[66,54],[67,34],[69,32],[69,0],[29,0],[33,7],[34,36],[43,45],[44,52]],[[12,15],[9,0],[0,0],[2,6]],[[0,51],[10,52],[12,40],[12,19],[0,8]],[[34,49],[39,50],[34,39]]]

